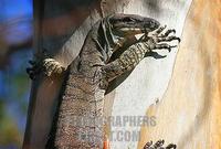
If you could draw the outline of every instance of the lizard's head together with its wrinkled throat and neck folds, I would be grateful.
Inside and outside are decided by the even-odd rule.
[[[113,54],[116,54],[118,47],[129,46],[138,42],[139,40],[135,38],[137,34],[147,34],[160,26],[160,23],[155,19],[123,13],[108,15],[101,24],[102,32],[99,33],[102,33],[102,38],[98,42],[103,49],[107,49],[105,51],[107,58],[105,60],[109,60]],[[105,43],[102,41],[105,41]]]

